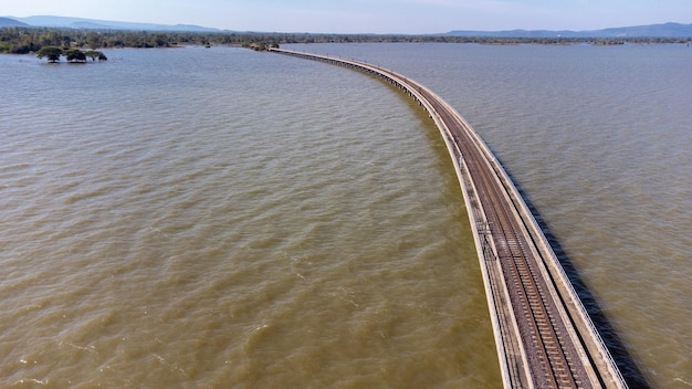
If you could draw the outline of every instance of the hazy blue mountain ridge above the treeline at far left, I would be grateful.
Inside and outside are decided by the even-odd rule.
[[[9,19],[9,18],[0,18]],[[28,18],[12,18],[15,21],[25,23],[24,27],[56,27],[63,29],[92,29],[92,30],[138,30],[138,31],[195,31],[195,32],[220,32],[219,29],[211,29],[201,25],[192,24],[153,24],[153,23],[133,23],[133,22],[117,22],[111,20],[96,20],[96,19],[83,19],[83,18],[66,18],[66,17],[28,17]],[[9,20],[12,20],[9,19]],[[2,24],[0,24],[2,25]]]

